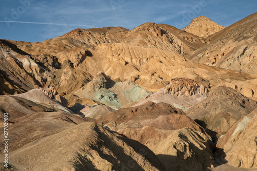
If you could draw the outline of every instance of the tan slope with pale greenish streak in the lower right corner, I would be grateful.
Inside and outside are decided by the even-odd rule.
[[[235,167],[257,168],[256,162],[256,117],[257,108],[242,116],[229,131],[218,140],[217,154],[220,160]]]

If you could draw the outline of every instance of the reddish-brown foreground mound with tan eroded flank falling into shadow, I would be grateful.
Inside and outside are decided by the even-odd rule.
[[[146,102],[141,106],[122,108],[103,115],[96,122],[148,146],[167,170],[206,169],[215,163],[208,144],[211,138],[205,130],[182,110],[167,103]],[[173,143],[169,143],[171,140]],[[205,152],[200,153],[201,150]],[[182,155],[184,153],[187,155]],[[176,163],[181,165],[175,166]]]

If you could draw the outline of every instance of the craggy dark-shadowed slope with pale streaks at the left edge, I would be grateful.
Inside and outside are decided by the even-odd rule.
[[[0,48],[5,52],[0,55],[3,94],[21,93],[33,88],[50,86],[66,94],[67,90],[70,92],[79,89],[92,79],[85,69],[76,68],[75,71],[73,64],[67,60],[60,64],[52,55],[30,55],[5,40],[1,40]]]

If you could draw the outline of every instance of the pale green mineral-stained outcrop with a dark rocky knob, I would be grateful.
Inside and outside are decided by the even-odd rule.
[[[91,82],[75,92],[80,98],[93,99],[114,108],[136,102],[151,93],[135,85],[132,80],[116,83],[103,72],[99,72]]]

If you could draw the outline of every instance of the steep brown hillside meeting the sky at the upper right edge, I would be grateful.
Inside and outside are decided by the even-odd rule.
[[[192,61],[256,74],[257,13],[210,36],[212,40],[190,57]]]

